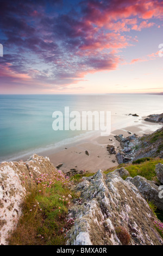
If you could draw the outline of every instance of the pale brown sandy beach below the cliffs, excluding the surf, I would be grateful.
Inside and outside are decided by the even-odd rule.
[[[92,137],[87,142],[79,143],[75,146],[70,146],[61,149],[54,154],[47,155],[54,166],[61,164],[61,169],[64,173],[69,172],[71,169],[77,171],[85,170],[85,172],[94,173],[98,169],[106,170],[118,165],[115,154],[109,154],[106,147],[108,144],[114,145],[116,153],[121,152],[120,143],[115,139],[115,135],[123,134],[124,137],[130,134],[143,136],[149,134],[159,128],[160,124],[150,123],[147,121],[139,121],[139,124],[134,126],[124,127],[124,129],[114,130],[110,136]],[[85,153],[87,151],[89,155]]]

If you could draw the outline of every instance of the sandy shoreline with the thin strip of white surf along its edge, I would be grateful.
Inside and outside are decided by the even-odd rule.
[[[7,161],[27,161],[33,154],[49,157],[55,167],[59,167],[64,173],[75,170],[79,173],[80,170],[85,172],[95,173],[98,169],[102,171],[118,166],[115,154],[109,154],[107,145],[114,145],[116,153],[121,153],[120,142],[115,139],[115,135],[122,134],[124,137],[136,134],[139,137],[152,133],[158,130],[161,125],[159,123],[150,123],[144,121],[146,117],[135,117],[132,119],[129,126],[111,131],[109,136],[99,136],[98,132],[88,132],[86,135],[74,137],[74,141],[62,144],[59,147],[44,150],[34,150],[32,153],[27,153],[24,156],[14,157]],[[67,140],[68,141],[68,140]],[[85,151],[89,155],[85,154]]]

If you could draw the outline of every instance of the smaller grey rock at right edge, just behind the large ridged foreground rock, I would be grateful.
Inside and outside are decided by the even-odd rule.
[[[155,185],[153,181],[147,180],[139,175],[129,180],[137,187],[148,202],[153,202],[158,209],[163,210],[163,199],[159,198],[159,186]]]

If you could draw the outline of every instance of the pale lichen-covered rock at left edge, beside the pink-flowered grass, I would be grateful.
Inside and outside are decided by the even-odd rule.
[[[16,227],[21,216],[21,203],[26,196],[26,186],[32,176],[55,170],[47,157],[33,155],[27,162],[2,162],[0,164],[0,245],[7,244],[9,232]]]

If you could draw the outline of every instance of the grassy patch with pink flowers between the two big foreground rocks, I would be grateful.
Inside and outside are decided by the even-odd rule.
[[[73,224],[67,220],[73,194],[70,181],[56,170],[41,175],[29,186],[22,204],[22,216],[9,237],[9,245],[64,245],[66,231]]]

